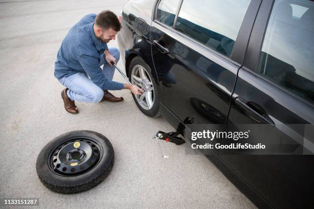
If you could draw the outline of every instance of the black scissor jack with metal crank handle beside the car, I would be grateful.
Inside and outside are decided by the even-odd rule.
[[[191,124],[193,123],[193,119],[194,118],[190,118],[190,117],[186,117],[185,120],[183,121],[184,124]],[[160,153],[162,155],[163,158],[168,158],[168,155],[163,155],[162,150],[160,148],[160,144],[159,144],[159,140],[165,140],[166,142],[172,142],[175,143],[176,145],[181,145],[183,143],[185,143],[185,140],[181,137],[179,137],[178,135],[181,134],[183,135],[183,131],[185,129],[184,124],[180,123],[178,128],[176,129],[176,132],[163,132],[163,131],[158,131],[152,138],[156,138],[158,145],[159,145],[159,149],[160,149]]]

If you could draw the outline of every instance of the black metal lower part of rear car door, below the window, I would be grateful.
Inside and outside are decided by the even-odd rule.
[[[181,121],[225,123],[240,65],[156,22],[152,22],[150,39],[169,50],[163,53],[151,45],[161,102]]]

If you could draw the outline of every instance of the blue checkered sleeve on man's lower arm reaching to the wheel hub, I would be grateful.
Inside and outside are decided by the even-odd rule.
[[[123,89],[123,83],[110,81],[103,74],[101,67],[99,67],[99,59],[87,55],[81,54],[78,58],[78,61],[82,65],[83,69],[90,77],[90,79],[103,90],[121,90]]]

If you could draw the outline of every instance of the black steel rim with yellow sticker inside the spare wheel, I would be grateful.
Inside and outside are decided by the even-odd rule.
[[[76,136],[62,141],[48,156],[49,169],[61,176],[78,176],[89,172],[103,156],[102,145],[87,136]]]

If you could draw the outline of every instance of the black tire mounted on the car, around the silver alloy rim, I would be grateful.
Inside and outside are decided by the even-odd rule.
[[[134,84],[132,82],[132,72],[134,69],[134,67],[136,68],[137,66],[142,66],[144,69],[145,69],[145,72],[147,73],[147,78],[151,81],[152,83],[152,87],[153,87],[153,105],[152,107],[144,107],[143,105],[141,105],[139,103],[139,100],[138,100],[138,96],[132,94],[133,96],[133,99],[136,103],[136,106],[138,106],[138,108],[142,111],[142,113],[144,113],[145,115],[149,116],[149,117],[159,117],[160,116],[160,106],[159,106],[159,98],[158,98],[158,92],[157,92],[157,89],[156,89],[156,84],[155,82],[153,81],[153,77],[152,77],[152,74],[151,74],[151,69],[150,67],[146,64],[146,62],[140,57],[140,56],[136,56],[134,57],[131,62],[130,62],[130,65],[129,65],[129,69],[128,69],[128,77],[129,77],[129,80],[132,84]],[[145,91],[146,93],[147,91]],[[145,97],[146,99],[146,97]],[[146,102],[147,103],[147,102]]]

